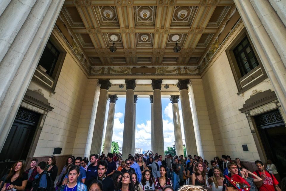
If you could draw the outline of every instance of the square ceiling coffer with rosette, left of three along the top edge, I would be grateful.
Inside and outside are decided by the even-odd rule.
[[[119,28],[116,8],[113,6],[94,6],[94,12],[101,28]]]

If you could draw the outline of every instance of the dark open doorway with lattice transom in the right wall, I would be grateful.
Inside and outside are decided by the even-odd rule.
[[[272,159],[281,178],[285,177],[286,127],[279,110],[259,115],[255,121],[267,158]]]

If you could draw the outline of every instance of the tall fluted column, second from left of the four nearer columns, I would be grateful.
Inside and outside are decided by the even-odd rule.
[[[134,89],[136,87],[135,79],[125,79],[126,84],[126,101],[125,101],[125,115],[124,115],[124,129],[122,142],[122,157],[128,158],[128,154],[134,153],[133,140],[133,120],[134,120]]]

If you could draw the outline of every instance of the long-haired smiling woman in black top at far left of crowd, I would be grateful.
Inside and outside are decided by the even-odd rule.
[[[13,165],[11,171],[9,172],[5,180],[5,184],[1,189],[2,191],[10,190],[12,188],[19,191],[25,190],[25,187],[28,182],[28,174],[24,172],[25,168],[24,166],[25,166],[25,161],[18,161]],[[7,184],[9,184],[9,186],[7,186],[6,189]]]

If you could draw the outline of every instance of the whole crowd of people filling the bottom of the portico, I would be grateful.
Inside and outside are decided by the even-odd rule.
[[[162,155],[148,151],[129,154],[102,152],[89,158],[74,156],[57,178],[56,157],[38,163],[36,158],[25,170],[25,161],[16,162],[1,179],[1,191],[285,191],[285,181],[280,182],[275,165],[268,160],[267,167],[255,161],[257,170],[250,172],[236,158],[222,155],[214,160],[188,155]],[[54,184],[56,182],[56,184]],[[281,184],[280,184],[281,183]]]

